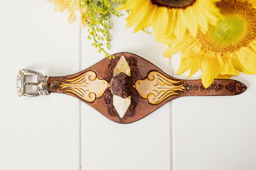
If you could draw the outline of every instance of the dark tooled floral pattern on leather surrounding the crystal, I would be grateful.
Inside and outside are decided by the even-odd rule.
[[[127,56],[127,55],[125,55],[125,53],[123,55],[124,55],[126,62],[130,66],[130,70],[131,70],[131,73],[130,73],[131,74],[131,76],[130,76],[130,80],[131,80],[130,85],[131,86],[130,87],[132,87],[138,79],[142,78],[142,76],[140,75],[139,69],[137,69],[137,59],[133,56]],[[105,71],[105,74],[102,75],[102,78],[105,79],[110,85],[112,85],[111,80],[114,75],[114,69],[115,69],[116,64],[118,63],[119,59],[121,58],[121,56],[122,55],[116,56],[116,58],[112,58],[110,60],[110,63],[108,64],[108,69]],[[116,82],[116,83],[118,84],[118,82]],[[118,91],[118,88],[116,90]],[[119,92],[121,92],[121,90]],[[124,120],[127,119],[128,117],[134,117],[136,115],[135,108],[137,106],[138,101],[140,100],[140,96],[135,88],[131,88],[131,92],[132,92],[131,93],[131,104],[128,107],[123,118],[119,117],[119,115],[113,105],[113,94],[111,93],[111,87],[109,87],[106,90],[106,92],[103,96],[104,100],[107,104],[107,107],[108,107],[108,115],[111,117],[118,117],[120,119],[121,123],[123,123]]]

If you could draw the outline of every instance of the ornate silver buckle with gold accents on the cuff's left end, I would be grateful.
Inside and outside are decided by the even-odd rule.
[[[28,83],[24,82],[25,75],[35,75],[39,76],[37,83]],[[39,95],[49,95],[50,93],[47,90],[48,83],[47,80],[50,76],[43,76],[42,73],[36,72],[33,70],[27,70],[27,69],[21,69],[19,73],[17,74],[16,78],[16,90],[18,95],[21,98],[30,98],[35,97]],[[37,85],[38,92],[24,92],[24,85]]]

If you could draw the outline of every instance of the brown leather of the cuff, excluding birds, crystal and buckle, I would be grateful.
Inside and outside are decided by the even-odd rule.
[[[68,83],[65,79],[72,79],[76,78],[88,71],[94,71],[97,75],[97,78],[106,80],[111,85],[111,79],[113,78],[113,69],[115,67],[115,64],[119,60],[119,58],[124,55],[126,61],[128,62],[130,68],[131,68],[131,77],[134,79],[133,84],[136,80],[144,80],[148,77],[148,74],[152,71],[156,71],[162,75],[164,75],[166,78],[172,79],[174,81],[180,81],[177,83],[177,85],[184,86],[184,92],[177,91],[180,95],[173,94],[169,97],[165,98],[161,102],[157,104],[152,104],[148,101],[148,99],[145,99],[140,96],[139,92],[132,87],[132,95],[131,95],[131,105],[128,108],[126,114],[121,119],[118,114],[116,114],[115,108],[113,107],[113,104],[111,103],[111,87],[108,87],[104,94],[100,96],[99,98],[96,98],[92,102],[88,102],[86,100],[81,99],[78,95],[72,92],[64,92],[65,89],[60,89],[61,87],[58,87],[57,89],[53,89],[51,87],[52,81],[58,81],[61,85],[62,82]],[[205,89],[202,85],[201,80],[180,80],[177,78],[173,78],[169,76],[168,74],[164,73],[162,70],[157,68],[154,64],[150,63],[149,61],[139,57],[138,55],[134,55],[131,53],[117,53],[114,54],[116,57],[115,59],[109,60],[108,58],[104,58],[100,62],[94,64],[93,66],[89,67],[86,70],[83,70],[79,73],[69,75],[69,76],[62,76],[62,77],[50,77],[48,79],[48,91],[49,92],[58,92],[58,93],[64,93],[71,96],[74,96],[88,105],[92,106],[94,109],[99,111],[102,115],[107,117],[108,119],[117,122],[117,123],[132,123],[135,121],[138,121],[142,119],[143,117],[149,115],[153,111],[155,111],[157,108],[163,106],[165,103],[169,102],[170,100],[173,100],[178,97],[182,96],[220,96],[220,95],[236,95],[241,94],[244,92],[247,87],[236,80],[227,80],[227,79],[215,79],[212,83],[212,85]],[[109,86],[110,86],[109,85]],[[68,89],[68,88],[67,88]]]

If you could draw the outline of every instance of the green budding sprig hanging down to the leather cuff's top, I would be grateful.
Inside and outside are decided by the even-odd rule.
[[[127,0],[111,1],[122,5],[126,3]],[[88,39],[92,39],[92,46],[95,46],[95,49],[98,48],[99,53],[101,51],[105,53],[105,57],[114,57],[104,50],[102,41],[105,40],[107,42],[106,46],[109,50],[111,41],[109,38],[109,30],[111,29],[109,26],[110,14],[113,14],[116,17],[123,16],[123,14],[112,8],[112,4],[110,4],[109,0],[99,0],[98,2],[95,2],[94,0],[81,0],[81,2],[82,6],[87,6],[87,11],[82,15],[82,18],[84,19],[84,22],[86,22],[86,17],[89,17],[90,19],[88,22]]]

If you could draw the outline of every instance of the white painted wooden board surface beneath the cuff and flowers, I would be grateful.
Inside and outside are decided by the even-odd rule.
[[[112,122],[74,97],[52,93],[20,99],[21,68],[64,76],[103,59],[87,29],[66,24],[65,12],[44,1],[0,5],[0,170],[256,169],[256,76],[234,76],[241,95],[182,97],[127,125]],[[180,56],[162,56],[153,35],[132,33],[111,17],[110,53],[144,57],[176,78]],[[200,78],[200,71],[191,79]]]

